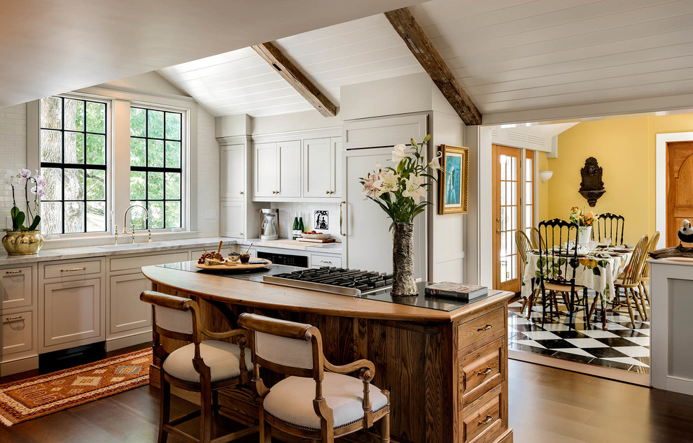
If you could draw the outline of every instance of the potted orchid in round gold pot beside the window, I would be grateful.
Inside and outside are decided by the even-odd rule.
[[[2,238],[2,245],[8,254],[36,254],[43,245],[43,237],[38,234],[38,225],[41,223],[41,215],[38,212],[40,199],[45,196],[45,180],[38,174],[38,170],[34,175],[31,175],[28,169],[8,170],[5,173],[5,184],[12,188],[12,209],[10,209],[12,228],[3,230],[7,231],[7,235]],[[22,184],[27,212],[20,210],[17,205],[17,193]],[[31,188],[29,184],[32,184]],[[29,201],[30,194],[31,201]]]

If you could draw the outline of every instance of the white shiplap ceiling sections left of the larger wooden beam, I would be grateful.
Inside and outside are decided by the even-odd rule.
[[[384,15],[280,38],[276,46],[339,106],[339,87],[423,69]],[[251,48],[158,71],[214,115],[314,109]]]

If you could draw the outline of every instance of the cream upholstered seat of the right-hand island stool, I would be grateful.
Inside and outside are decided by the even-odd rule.
[[[332,409],[335,429],[363,421],[363,382],[349,375],[325,371],[323,397]],[[315,381],[307,377],[287,377],[272,386],[263,403],[265,412],[297,428],[320,430],[320,417],[315,413]],[[370,385],[373,412],[387,406],[380,389]]]

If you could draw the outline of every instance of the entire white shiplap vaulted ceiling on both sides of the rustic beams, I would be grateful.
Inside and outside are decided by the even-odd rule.
[[[484,115],[693,93],[693,1],[432,0],[409,7]],[[339,87],[421,72],[382,15],[276,45],[339,104]],[[312,107],[252,50],[160,71],[215,115]]]

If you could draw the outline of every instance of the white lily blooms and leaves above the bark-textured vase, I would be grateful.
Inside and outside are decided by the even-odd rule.
[[[421,214],[430,202],[426,201],[428,187],[435,177],[429,170],[440,170],[438,153],[428,164],[424,158],[423,146],[430,140],[430,134],[416,143],[412,138],[414,150],[407,153],[407,145],[395,145],[392,151],[393,166],[377,164],[375,170],[360,178],[363,185],[364,200],[370,198],[390,217],[393,223],[410,223]]]

